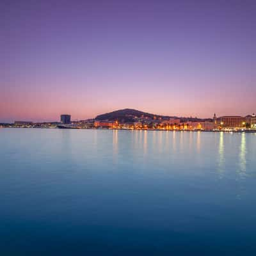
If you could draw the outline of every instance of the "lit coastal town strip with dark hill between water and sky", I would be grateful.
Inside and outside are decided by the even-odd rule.
[[[49,128],[49,129],[118,129],[148,131],[227,131],[256,132],[256,116],[220,116],[213,118],[184,118],[161,116],[135,109],[121,109],[96,116],[92,119],[72,121],[71,115],[63,114],[60,122],[15,121],[0,124],[1,128]]]

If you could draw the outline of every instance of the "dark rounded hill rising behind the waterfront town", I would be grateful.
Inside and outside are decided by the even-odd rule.
[[[169,116],[161,116],[161,115],[154,115],[150,113],[146,113],[143,111],[139,111],[136,109],[120,109],[116,110],[113,112],[109,112],[103,115],[96,116],[95,119],[97,120],[110,120],[110,121],[115,121],[118,120],[119,122],[134,122],[134,120],[144,117],[144,118],[169,118]]]

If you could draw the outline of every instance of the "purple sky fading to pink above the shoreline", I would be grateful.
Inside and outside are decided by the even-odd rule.
[[[256,112],[256,1],[0,2],[0,122]]]

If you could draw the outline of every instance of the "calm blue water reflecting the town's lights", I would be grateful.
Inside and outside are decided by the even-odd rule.
[[[256,255],[256,134],[0,129],[0,255]]]

